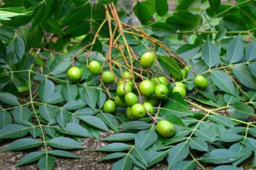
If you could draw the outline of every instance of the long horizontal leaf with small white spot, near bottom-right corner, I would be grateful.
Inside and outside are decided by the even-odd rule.
[[[232,163],[238,160],[242,155],[228,149],[215,149],[210,153],[205,153],[201,156],[200,160],[205,163]]]

